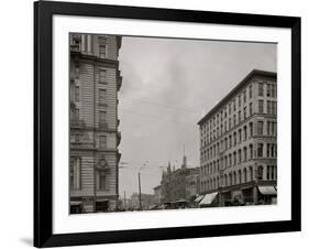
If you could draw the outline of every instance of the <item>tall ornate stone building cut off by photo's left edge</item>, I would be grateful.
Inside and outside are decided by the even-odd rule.
[[[70,34],[70,213],[118,205],[121,36]]]

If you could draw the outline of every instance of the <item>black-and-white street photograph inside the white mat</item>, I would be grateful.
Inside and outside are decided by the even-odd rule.
[[[68,46],[70,214],[276,205],[276,43]]]

